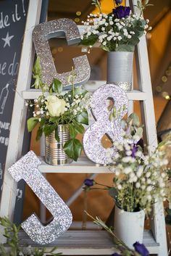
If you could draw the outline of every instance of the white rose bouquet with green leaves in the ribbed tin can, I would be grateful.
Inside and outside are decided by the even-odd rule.
[[[38,124],[37,140],[42,133],[49,136],[55,132],[55,139],[59,141],[58,125],[69,125],[70,140],[64,144],[63,149],[68,157],[77,161],[83,146],[76,136],[84,132],[83,124],[88,125],[88,93],[82,88],[75,88],[74,76],[72,68],[71,91],[62,91],[62,83],[56,78],[50,86],[46,86],[41,81],[41,66],[37,59],[33,68],[33,78],[36,78],[33,86],[41,88],[42,94],[34,102],[26,102],[26,105],[34,107],[33,117],[28,119],[28,131],[33,131]]]

